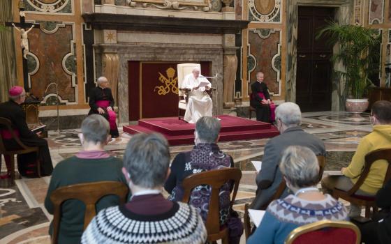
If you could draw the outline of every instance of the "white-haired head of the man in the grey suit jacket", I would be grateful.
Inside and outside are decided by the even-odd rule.
[[[288,127],[296,126],[302,122],[302,112],[299,105],[293,102],[283,102],[276,108],[276,119]]]

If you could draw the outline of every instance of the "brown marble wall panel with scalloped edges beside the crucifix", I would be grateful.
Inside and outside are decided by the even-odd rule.
[[[75,77],[71,75],[75,73],[72,40],[72,24],[60,25],[54,33],[45,33],[40,29],[32,29],[29,33],[30,52],[38,59],[38,70],[34,75],[30,74],[31,92],[35,96],[42,98],[47,85],[55,82],[62,100],[76,101]],[[47,91],[55,92],[54,86]]]

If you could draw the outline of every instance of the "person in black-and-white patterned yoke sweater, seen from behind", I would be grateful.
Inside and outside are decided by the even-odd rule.
[[[161,194],[169,165],[170,151],[163,136],[132,137],[122,169],[132,198],[124,206],[96,215],[82,243],[205,243],[206,229],[196,209]]]

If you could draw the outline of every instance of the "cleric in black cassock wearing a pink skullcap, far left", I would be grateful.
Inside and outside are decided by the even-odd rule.
[[[49,176],[52,174],[53,165],[50,158],[49,146],[47,141],[29,130],[26,123],[26,115],[20,105],[26,99],[26,92],[21,86],[13,86],[8,92],[10,100],[0,104],[0,117],[9,119],[12,123],[16,135],[19,135],[20,141],[26,146],[38,146],[37,153],[26,153],[17,155],[17,169],[22,176],[38,176],[36,171],[36,162],[40,161],[40,175]],[[18,150],[20,146],[12,139],[8,130],[0,128],[0,135],[7,150]],[[6,159],[8,175],[10,174],[9,161]]]

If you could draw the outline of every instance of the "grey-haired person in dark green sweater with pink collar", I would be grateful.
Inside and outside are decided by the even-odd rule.
[[[103,149],[110,139],[109,131],[109,123],[103,116],[92,114],[84,119],[82,134],[79,135],[83,150],[59,162],[54,168],[45,198],[45,208],[49,213],[54,211],[50,194],[57,188],[96,181],[120,181],[126,184],[126,178],[121,172],[121,160]],[[106,196],[98,201],[96,211],[117,204],[119,197]],[[84,204],[72,199],[65,201],[61,209],[59,243],[80,243],[84,224]]]

